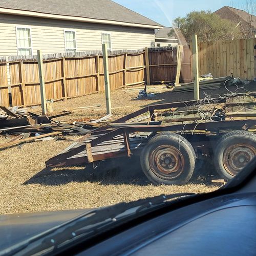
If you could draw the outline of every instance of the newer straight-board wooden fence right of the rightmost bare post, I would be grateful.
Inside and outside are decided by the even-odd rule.
[[[199,42],[199,75],[231,76],[253,80],[256,38]]]

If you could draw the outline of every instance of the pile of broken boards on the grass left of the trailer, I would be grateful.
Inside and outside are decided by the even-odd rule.
[[[101,124],[106,118],[93,120],[92,122],[55,121],[55,118],[72,114],[66,111],[58,115],[38,115],[29,112],[29,108],[19,109],[18,106],[6,108],[0,106],[0,136],[11,138],[7,143],[0,144],[0,148],[29,141],[63,139],[65,135],[85,135]]]

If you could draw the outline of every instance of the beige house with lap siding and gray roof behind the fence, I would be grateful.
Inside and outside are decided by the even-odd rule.
[[[0,56],[141,49],[162,28],[110,0],[0,0]]]

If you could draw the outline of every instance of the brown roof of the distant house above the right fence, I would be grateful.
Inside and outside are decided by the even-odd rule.
[[[246,11],[236,9],[229,6],[224,6],[221,9],[215,11],[221,18],[229,19],[234,24],[242,28],[242,30],[250,31],[250,17]],[[252,27],[256,29],[256,16],[252,15]]]

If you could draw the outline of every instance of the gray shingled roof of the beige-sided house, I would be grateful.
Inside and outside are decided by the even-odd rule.
[[[162,26],[111,0],[0,0],[0,8]]]

